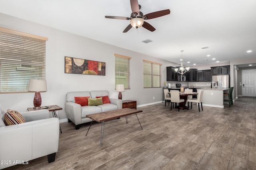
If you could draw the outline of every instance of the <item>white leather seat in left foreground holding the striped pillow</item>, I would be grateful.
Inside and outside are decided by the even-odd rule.
[[[0,105],[0,169],[16,164],[28,164],[48,155],[55,160],[59,144],[59,119],[49,118],[47,109],[20,112],[26,123],[4,124],[5,111]]]

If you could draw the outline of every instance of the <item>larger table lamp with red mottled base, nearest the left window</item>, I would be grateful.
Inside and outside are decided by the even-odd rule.
[[[28,92],[35,92],[34,96],[34,109],[41,106],[42,98],[40,92],[46,92],[46,80],[29,80]]]

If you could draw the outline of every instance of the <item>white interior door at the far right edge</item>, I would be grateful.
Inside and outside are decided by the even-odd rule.
[[[256,70],[242,70],[243,96],[256,97]]]

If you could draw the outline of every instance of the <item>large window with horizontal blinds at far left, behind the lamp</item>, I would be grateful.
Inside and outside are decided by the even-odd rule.
[[[0,93],[28,92],[30,79],[45,80],[46,41],[0,27]]]

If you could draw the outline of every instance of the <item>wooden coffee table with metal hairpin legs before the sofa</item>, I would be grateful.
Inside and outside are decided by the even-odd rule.
[[[94,114],[86,115],[86,117],[89,117],[90,119],[92,119],[92,122],[93,121],[97,121],[99,123],[101,122],[100,146],[102,146],[105,121],[125,116],[126,123],[128,123],[127,115],[135,114],[137,116],[137,113],[140,113],[140,112],[142,112],[142,110],[124,108],[124,109],[118,109],[118,110],[112,110],[112,111],[105,111],[102,113],[94,113]],[[137,119],[139,121],[138,116],[137,116]],[[139,123],[140,123],[140,121],[139,121]],[[91,123],[91,125],[92,125],[92,123]],[[91,127],[91,125],[90,125],[90,127]],[[89,127],[89,129],[90,129],[90,127]],[[141,124],[140,124],[140,127],[142,129]],[[89,131],[89,129],[88,129],[88,131]],[[87,131],[87,133],[88,133],[88,131]],[[87,135],[87,133],[86,133],[86,135]]]

